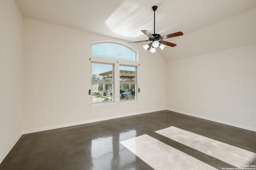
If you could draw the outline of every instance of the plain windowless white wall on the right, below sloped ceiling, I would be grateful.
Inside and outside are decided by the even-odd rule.
[[[170,110],[256,130],[256,44],[168,62],[167,89]]]

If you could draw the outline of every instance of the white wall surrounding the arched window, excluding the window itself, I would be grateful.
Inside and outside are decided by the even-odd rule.
[[[139,53],[139,102],[91,107],[91,43],[119,39],[24,18],[23,129],[142,113],[166,108],[166,62]],[[153,57],[155,56],[155,58]]]

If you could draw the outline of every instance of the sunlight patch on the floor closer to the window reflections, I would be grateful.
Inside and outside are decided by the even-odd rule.
[[[149,135],[120,142],[155,170],[216,170],[216,168]]]

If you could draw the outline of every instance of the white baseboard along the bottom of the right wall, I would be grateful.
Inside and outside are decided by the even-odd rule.
[[[236,124],[236,123],[232,123],[232,122],[228,122],[228,121],[223,121],[223,120],[214,119],[214,118],[211,118],[211,117],[196,115],[196,114],[193,114],[193,113],[188,113],[188,112],[185,112],[185,111],[180,111],[180,110],[175,110],[175,109],[170,109],[170,108],[167,108],[167,110],[174,111],[174,112],[177,112],[177,113],[182,113],[184,115],[190,115],[190,116],[193,116],[193,117],[198,117],[198,118],[201,118],[201,119],[206,119],[206,120],[214,121],[214,122],[217,122],[217,123],[222,123],[222,124],[225,124],[225,125],[239,127],[239,128],[242,128],[242,129],[246,129],[246,130],[249,130],[249,131],[256,132],[256,128],[254,128],[254,127],[240,125],[240,124]]]

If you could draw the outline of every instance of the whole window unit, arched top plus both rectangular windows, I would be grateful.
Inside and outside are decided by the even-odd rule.
[[[137,51],[128,45],[92,43],[92,106],[137,100],[137,61]]]

